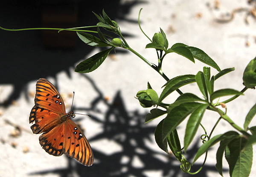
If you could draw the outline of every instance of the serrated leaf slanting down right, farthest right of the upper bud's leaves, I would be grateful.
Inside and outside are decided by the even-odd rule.
[[[221,69],[218,67],[215,61],[213,61],[212,58],[210,58],[203,50],[192,46],[187,46],[187,48],[192,52],[194,58],[198,59],[199,61],[205,64],[208,64],[209,66],[215,68],[218,71],[221,71]]]

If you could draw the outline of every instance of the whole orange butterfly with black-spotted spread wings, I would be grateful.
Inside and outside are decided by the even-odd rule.
[[[36,83],[35,106],[29,115],[30,127],[39,137],[42,148],[53,156],[66,154],[86,166],[93,164],[93,151],[84,133],[66,113],[61,95],[52,83],[40,78]]]

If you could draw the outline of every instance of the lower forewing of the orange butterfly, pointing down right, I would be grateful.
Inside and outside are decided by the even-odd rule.
[[[72,120],[64,122],[64,142],[63,152],[69,157],[73,157],[83,165],[93,164],[93,151],[84,133]]]

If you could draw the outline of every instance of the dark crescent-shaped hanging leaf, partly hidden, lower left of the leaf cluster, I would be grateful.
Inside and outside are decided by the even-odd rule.
[[[162,149],[163,151],[165,151],[166,153],[168,153],[167,139],[166,139],[166,137],[165,138],[163,137],[163,133],[162,133],[163,122],[164,122],[164,119],[161,122],[159,122],[159,124],[157,125],[157,127],[155,129],[154,135],[155,135],[156,143],[159,146],[159,148]]]

